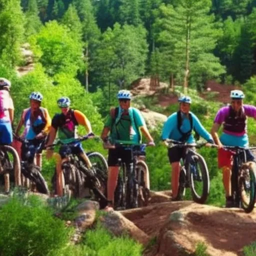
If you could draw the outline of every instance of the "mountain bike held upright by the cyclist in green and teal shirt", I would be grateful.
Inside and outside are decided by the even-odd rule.
[[[147,205],[150,199],[149,172],[144,160],[147,144],[115,143],[105,148],[129,150],[132,161],[127,164],[118,159],[117,185],[114,191],[114,208],[128,209]],[[141,157],[142,156],[142,157]]]

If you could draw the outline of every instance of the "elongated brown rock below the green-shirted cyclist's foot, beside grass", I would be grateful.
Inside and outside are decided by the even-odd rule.
[[[142,244],[148,242],[149,236],[125,218],[120,212],[111,211],[102,216],[103,226],[116,236],[129,235]]]

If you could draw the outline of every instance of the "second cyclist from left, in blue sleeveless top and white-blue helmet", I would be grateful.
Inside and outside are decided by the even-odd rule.
[[[41,107],[42,94],[40,92],[31,92],[29,95],[29,100],[30,107],[25,108],[22,111],[15,134],[18,136],[22,125],[24,125],[22,137],[29,140],[29,143],[33,144],[34,146],[38,146],[49,132],[51,118],[48,110],[45,107]],[[26,150],[26,144],[22,143],[21,160],[25,160]],[[38,152],[35,155],[35,159],[36,165],[41,168],[41,152]]]

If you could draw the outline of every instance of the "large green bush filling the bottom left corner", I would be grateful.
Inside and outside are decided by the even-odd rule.
[[[0,255],[50,255],[66,245],[69,234],[36,196],[13,197],[0,208]]]

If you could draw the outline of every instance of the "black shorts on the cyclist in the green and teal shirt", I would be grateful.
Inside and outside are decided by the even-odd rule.
[[[131,163],[131,150],[124,149],[122,147],[116,149],[108,150],[107,164],[108,166],[116,166],[118,163],[118,158],[121,159],[122,162],[126,164]]]

